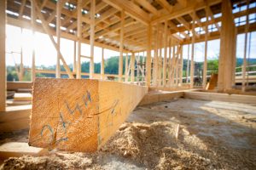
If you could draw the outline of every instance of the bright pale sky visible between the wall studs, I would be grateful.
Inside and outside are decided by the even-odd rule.
[[[236,45],[236,57],[243,57],[244,54],[244,41],[245,34],[240,34],[237,36],[237,45]],[[219,39],[212,40],[208,42],[207,50],[207,59],[216,59],[219,54]],[[249,34],[247,37],[247,44],[249,44]],[[204,47],[205,43],[195,43],[195,61],[204,60]],[[36,32],[35,33],[35,42],[32,42],[32,31],[23,29],[21,33],[20,27],[9,26],[6,27],[6,65],[15,65],[20,64],[20,49],[23,48],[23,64],[25,66],[31,67],[32,65],[32,48],[35,48],[36,53],[36,65],[55,65],[56,63],[56,50],[54,45],[50,41],[48,35]],[[67,62],[67,65],[73,64],[73,50],[74,42],[61,38],[61,54],[63,54],[64,59]],[[190,45],[191,55],[191,45]],[[249,47],[247,46],[247,58],[256,59],[256,31],[251,34],[251,46],[250,53]],[[12,53],[13,52],[13,53]],[[94,48],[94,62],[98,63],[102,60],[102,48]],[[81,54],[85,56],[90,55],[90,45],[82,44]],[[144,53],[146,55],[146,53]],[[152,51],[152,56],[154,52]],[[168,54],[168,53],[167,53]],[[113,50],[104,50],[104,59],[108,59],[112,56],[118,56],[119,52]],[[143,53],[140,53],[143,55]],[[188,45],[183,46],[183,59],[188,58]],[[81,62],[89,59],[81,59]]]

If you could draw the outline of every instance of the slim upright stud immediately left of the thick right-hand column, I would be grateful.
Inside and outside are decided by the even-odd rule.
[[[206,28],[205,28],[205,59],[204,59],[204,71],[203,71],[203,88],[207,88],[207,46],[208,46],[208,18],[209,18],[209,14],[208,14],[208,10],[206,10],[207,12],[207,20],[206,20]]]

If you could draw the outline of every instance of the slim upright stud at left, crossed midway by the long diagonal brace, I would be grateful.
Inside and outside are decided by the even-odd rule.
[[[56,60],[56,78],[61,78],[61,0],[56,5],[56,36],[57,36],[57,60]]]

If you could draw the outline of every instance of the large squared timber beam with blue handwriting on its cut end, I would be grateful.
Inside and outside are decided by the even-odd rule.
[[[90,79],[36,79],[29,144],[92,152],[105,144],[148,88]]]

